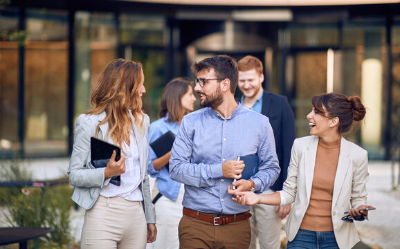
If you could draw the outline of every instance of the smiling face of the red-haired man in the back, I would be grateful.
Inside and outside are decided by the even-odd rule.
[[[259,75],[255,69],[239,71],[239,89],[246,98],[258,98],[262,93],[264,75]]]

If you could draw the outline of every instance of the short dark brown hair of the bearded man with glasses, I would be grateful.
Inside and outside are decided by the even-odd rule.
[[[237,80],[239,78],[235,59],[228,55],[215,55],[192,64],[192,71],[195,75],[203,69],[210,70],[212,68],[217,78],[230,80],[230,92],[235,94]]]

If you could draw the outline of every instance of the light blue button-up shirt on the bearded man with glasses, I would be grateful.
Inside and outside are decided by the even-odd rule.
[[[237,214],[250,210],[228,194],[233,178],[222,174],[222,163],[237,155],[257,154],[259,170],[251,177],[257,192],[273,185],[280,173],[269,119],[238,104],[223,118],[210,107],[183,117],[170,158],[170,176],[185,184],[183,206],[200,212]]]

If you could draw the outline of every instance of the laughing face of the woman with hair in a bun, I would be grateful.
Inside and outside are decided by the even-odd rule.
[[[307,120],[309,120],[310,134],[314,136],[323,137],[330,134],[332,131],[336,131],[336,125],[334,125],[334,119],[325,116],[325,113],[321,113],[314,107],[310,113],[307,114]]]

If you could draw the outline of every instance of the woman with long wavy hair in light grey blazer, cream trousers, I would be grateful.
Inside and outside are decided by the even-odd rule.
[[[140,62],[114,59],[98,77],[92,108],[80,115],[69,165],[73,201],[86,210],[80,248],[145,248],[156,239],[156,216],[147,176],[149,117],[142,111],[145,93]],[[106,167],[93,167],[90,138],[121,148]],[[120,175],[120,185],[110,183]]]

